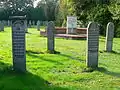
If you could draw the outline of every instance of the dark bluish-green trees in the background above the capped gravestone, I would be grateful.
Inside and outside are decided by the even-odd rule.
[[[9,16],[26,15],[28,20],[55,20],[55,10],[58,0],[41,0],[33,7],[35,0],[2,0],[0,1],[0,19],[7,20]]]

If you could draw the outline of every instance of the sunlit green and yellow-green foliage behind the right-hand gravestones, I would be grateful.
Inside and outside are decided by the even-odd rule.
[[[72,9],[69,6],[72,6]],[[60,7],[62,7],[59,9],[61,15],[58,15],[59,19],[57,20],[63,21],[61,25],[65,25],[67,15],[76,15],[80,27],[87,27],[90,21],[98,22],[100,34],[105,35],[107,23],[113,22],[115,24],[115,36],[120,37],[119,0],[65,0],[61,1]]]

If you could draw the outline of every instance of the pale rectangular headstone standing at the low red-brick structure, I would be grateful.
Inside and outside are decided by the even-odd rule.
[[[77,17],[67,17],[67,34],[76,34],[77,29]]]

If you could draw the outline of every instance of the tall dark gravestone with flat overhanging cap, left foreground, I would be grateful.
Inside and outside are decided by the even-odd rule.
[[[12,16],[12,53],[13,69],[15,71],[26,71],[26,49],[25,49],[25,18],[24,16]]]

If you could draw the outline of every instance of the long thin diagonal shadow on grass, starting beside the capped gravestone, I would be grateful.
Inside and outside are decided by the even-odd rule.
[[[42,53],[42,52],[41,52]],[[46,59],[42,56],[38,56],[36,55],[38,54],[37,52],[33,52],[33,51],[27,51],[27,55],[28,56],[31,56],[32,58],[37,58],[37,59],[40,59],[40,60],[43,60],[43,61],[48,61],[48,62],[51,62],[51,63],[56,63],[56,64],[59,64],[59,65],[63,65],[62,63],[58,62],[58,61],[54,61],[54,60],[51,60],[51,59]],[[40,54],[40,53],[39,53]],[[42,53],[43,54],[43,53]]]

